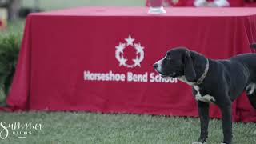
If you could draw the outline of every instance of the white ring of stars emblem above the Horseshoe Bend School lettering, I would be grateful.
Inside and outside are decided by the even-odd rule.
[[[134,43],[135,39],[131,38],[129,35],[128,38],[125,38],[126,43],[120,42],[118,46],[115,46],[115,58],[119,62],[119,66],[126,66],[128,68],[134,68],[136,66],[141,66],[141,62],[144,59],[144,47],[141,46],[141,43]],[[133,64],[127,64],[128,59],[124,58],[124,51],[127,46],[132,46],[136,51],[136,58],[133,59]]]

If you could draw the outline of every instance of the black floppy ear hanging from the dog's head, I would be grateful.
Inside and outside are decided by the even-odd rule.
[[[194,63],[190,56],[190,51],[186,50],[184,54],[184,75],[187,81],[194,82],[196,79],[196,73],[194,71]]]

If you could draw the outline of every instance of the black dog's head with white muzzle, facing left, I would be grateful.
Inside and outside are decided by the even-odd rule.
[[[185,47],[167,51],[164,58],[154,63],[154,70],[157,70],[162,77],[178,78],[185,76],[189,82],[194,82],[196,79],[190,50]]]

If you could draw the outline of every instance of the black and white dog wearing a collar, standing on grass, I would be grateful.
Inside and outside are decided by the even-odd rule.
[[[253,45],[255,46],[255,45]],[[167,51],[164,58],[154,64],[162,77],[178,78],[193,87],[198,102],[202,144],[208,137],[209,103],[216,104],[222,112],[223,143],[232,140],[231,103],[244,90],[256,109],[256,54],[240,54],[230,59],[213,60],[186,47]]]

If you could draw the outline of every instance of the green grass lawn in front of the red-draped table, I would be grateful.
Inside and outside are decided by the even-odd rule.
[[[86,112],[0,112],[0,115],[0,122],[42,124],[42,130],[32,130],[32,135],[26,138],[18,138],[10,130],[6,139],[0,139],[0,143],[10,144],[189,144],[199,134],[198,118]],[[234,123],[233,128],[234,144],[256,143],[254,123]],[[209,144],[221,143],[221,121],[210,120],[209,133]]]

